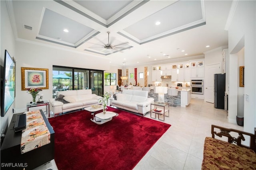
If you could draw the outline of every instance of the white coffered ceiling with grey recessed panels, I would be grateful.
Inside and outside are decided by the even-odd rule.
[[[7,4],[16,39],[106,57],[115,65],[125,61],[129,66],[202,55],[228,45],[224,27],[232,1],[17,0]]]

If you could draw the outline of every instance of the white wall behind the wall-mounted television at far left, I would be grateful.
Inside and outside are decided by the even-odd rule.
[[[0,1],[0,20],[1,20],[1,25],[0,25],[0,61],[1,65],[3,65],[4,62],[4,50],[6,49],[8,53],[11,55],[11,57],[16,58],[16,51],[15,51],[15,39],[14,39],[14,34],[12,31],[12,25],[10,23],[10,18],[9,14],[7,11],[6,7],[6,1]],[[17,94],[16,94],[17,96]],[[1,117],[1,123],[0,123],[0,128],[1,128],[1,135],[3,133],[4,128],[6,125],[11,121],[12,119],[12,108],[15,106],[12,104],[10,109],[7,111],[6,115],[4,117]]]

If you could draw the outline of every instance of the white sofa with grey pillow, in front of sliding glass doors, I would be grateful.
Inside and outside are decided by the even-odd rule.
[[[60,94],[62,94],[64,100],[69,103],[64,104],[63,102],[56,101],[55,98],[50,99],[50,110],[54,113],[54,116],[66,111],[82,109],[98,104],[99,99],[102,98],[101,96],[92,94],[91,89],[60,91],[57,94],[57,98]]]

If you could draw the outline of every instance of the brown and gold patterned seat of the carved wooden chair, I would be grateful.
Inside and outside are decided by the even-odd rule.
[[[202,170],[255,169],[256,154],[252,149],[206,137]]]

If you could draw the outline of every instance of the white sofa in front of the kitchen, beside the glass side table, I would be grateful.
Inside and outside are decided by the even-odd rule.
[[[110,98],[110,106],[140,113],[143,116],[150,111],[150,104],[154,98],[148,98],[148,91],[124,89],[122,93],[116,93],[116,100]]]

